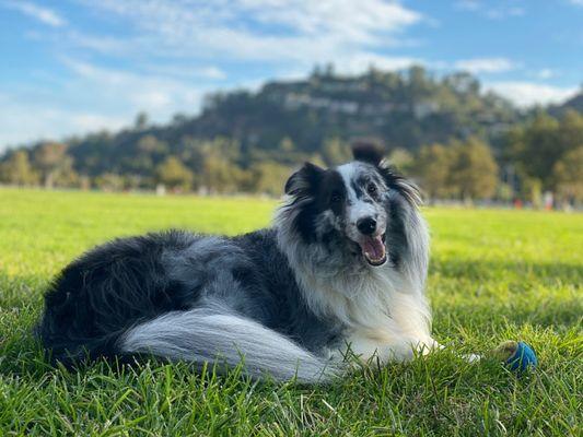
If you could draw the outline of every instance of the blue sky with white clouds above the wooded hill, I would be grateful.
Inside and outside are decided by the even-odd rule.
[[[583,0],[0,0],[0,150],[195,115],[315,64],[465,70],[521,107],[583,83]]]

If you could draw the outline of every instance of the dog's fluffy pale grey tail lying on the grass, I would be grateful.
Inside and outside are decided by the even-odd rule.
[[[171,361],[228,367],[243,362],[256,378],[296,378],[300,382],[325,382],[338,367],[313,355],[283,335],[261,324],[212,307],[173,311],[138,324],[121,335],[124,353],[145,353]]]

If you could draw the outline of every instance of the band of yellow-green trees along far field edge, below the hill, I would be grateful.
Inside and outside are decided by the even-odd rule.
[[[411,176],[431,199],[516,198],[540,201],[550,190],[560,199],[583,201],[583,115],[568,110],[557,119],[539,111],[513,127],[504,137],[498,156],[478,137],[453,139],[421,146],[416,152],[395,147],[389,162]],[[189,146],[179,154],[151,134],[138,141],[144,155],[136,155],[133,172],[104,172],[91,177],[75,169],[74,157],[65,143],[45,142],[34,149],[7,153],[0,164],[0,181],[47,188],[97,188],[102,190],[154,189],[163,185],[173,191],[206,193],[281,193],[291,172],[304,161],[331,166],[350,160],[350,144],[338,138],[326,140],[320,151],[299,152],[285,138],[269,153],[250,151],[253,164],[241,165],[236,141],[184,139]],[[161,154],[144,158],[145,152]]]

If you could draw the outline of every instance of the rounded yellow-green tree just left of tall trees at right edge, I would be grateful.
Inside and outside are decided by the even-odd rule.
[[[491,198],[498,184],[498,165],[491,149],[477,138],[452,145],[450,182],[459,199]]]

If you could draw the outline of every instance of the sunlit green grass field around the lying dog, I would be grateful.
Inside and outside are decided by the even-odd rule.
[[[331,387],[255,383],[187,364],[46,364],[30,329],[50,277],[92,245],[177,226],[236,234],[275,202],[0,190],[0,435],[579,436],[583,216],[429,209],[434,334],[486,352],[523,339],[540,366],[516,377],[453,353],[361,370]]]

